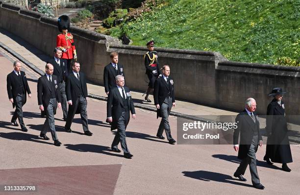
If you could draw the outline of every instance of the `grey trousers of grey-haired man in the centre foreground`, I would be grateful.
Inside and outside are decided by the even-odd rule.
[[[119,143],[121,142],[121,147],[124,153],[130,153],[129,149],[127,148],[126,132],[125,132],[127,127],[126,122],[128,121],[128,119],[129,119],[129,111],[122,112],[122,115],[118,120],[118,131],[115,135],[114,141],[111,144],[112,149],[117,149]]]

